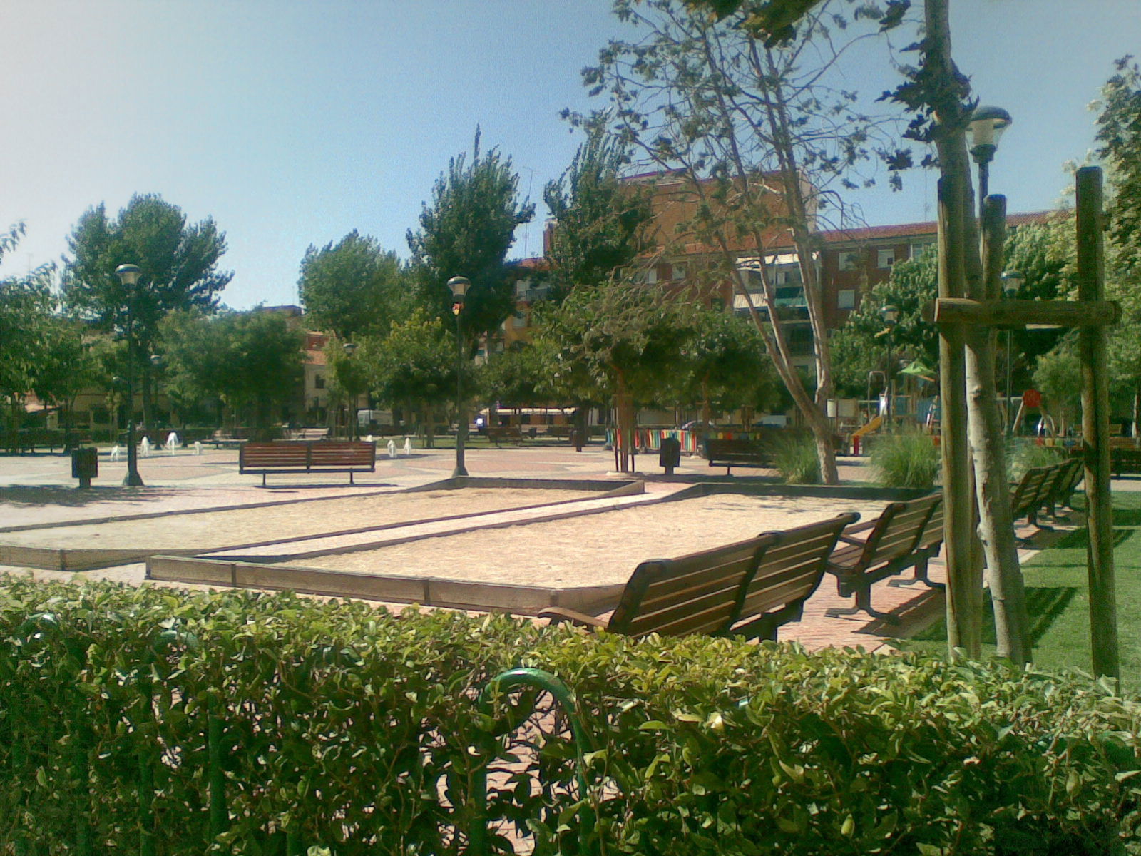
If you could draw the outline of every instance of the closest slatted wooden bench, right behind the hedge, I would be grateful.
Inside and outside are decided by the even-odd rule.
[[[858,518],[844,514],[677,559],[642,562],[608,621],[553,606],[540,616],[626,636],[776,639],[777,628],[800,619],[836,539]]]

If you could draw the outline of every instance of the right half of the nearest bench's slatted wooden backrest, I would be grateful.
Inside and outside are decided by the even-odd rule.
[[[737,619],[751,619],[803,603],[824,579],[828,556],[840,533],[859,519],[848,512],[807,526],[769,532],[776,541],[761,555],[753,579],[745,587]]]

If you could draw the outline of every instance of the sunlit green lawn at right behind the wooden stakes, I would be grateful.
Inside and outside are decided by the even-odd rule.
[[[1074,498],[1075,506],[1082,495]],[[1114,557],[1117,568],[1117,633],[1122,683],[1141,691],[1141,493],[1114,494]],[[1034,662],[1045,669],[1090,669],[1090,605],[1086,587],[1086,533],[1066,535],[1028,562],[1022,572],[1034,635]],[[995,630],[987,597],[984,654],[995,651]],[[912,639],[909,651],[946,651],[947,627],[940,620]]]

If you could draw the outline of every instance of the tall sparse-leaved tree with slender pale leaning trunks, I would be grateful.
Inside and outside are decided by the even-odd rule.
[[[709,248],[721,275],[731,277],[747,301],[777,373],[812,431],[823,478],[834,484],[825,415],[832,368],[811,233],[823,209],[839,207],[835,188],[855,185],[857,168],[875,148],[877,123],[857,107],[855,94],[826,82],[844,50],[835,39],[848,25],[832,8],[839,3],[803,11],[792,32],[778,27],[788,35],[785,41],[762,40],[748,29],[758,3],[733,6],[718,9],[723,13],[718,19],[680,0],[615,0],[615,14],[645,34],[636,42],[610,42],[599,64],[583,72],[591,91],[606,92],[612,105],[591,122],[610,127],[642,160],[687,181],[695,213],[686,240]],[[873,17],[874,6],[857,6],[855,17]],[[768,266],[751,265],[761,281],[756,307],[742,265],[787,245],[800,263],[815,339],[815,394],[793,364],[783,325],[769,323],[778,313]]]

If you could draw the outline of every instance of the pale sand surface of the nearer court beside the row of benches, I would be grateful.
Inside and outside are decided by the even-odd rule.
[[[597,586],[625,582],[646,559],[675,558],[844,511],[858,511],[867,519],[883,504],[714,494],[275,564],[513,584]]]

